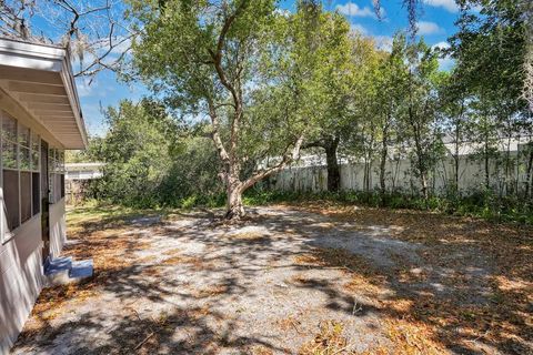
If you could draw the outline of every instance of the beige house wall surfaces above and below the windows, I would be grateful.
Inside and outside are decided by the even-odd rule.
[[[6,91],[0,89],[0,110],[41,135],[51,148],[60,143],[32,119]],[[0,185],[0,212],[6,211]],[[4,219],[4,213],[0,213]],[[64,199],[50,205],[50,252],[58,256],[66,241]],[[2,221],[7,226],[6,220]],[[0,232],[3,227],[0,227]],[[0,355],[7,354],[44,286],[41,213],[0,237]]]

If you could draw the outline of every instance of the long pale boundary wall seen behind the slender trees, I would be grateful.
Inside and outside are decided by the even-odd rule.
[[[490,162],[490,183],[494,192],[506,193],[523,191],[526,184],[525,161],[516,162],[516,152],[511,153],[511,163],[505,174],[505,164],[493,160]],[[365,190],[365,164],[341,164],[341,190]],[[409,159],[388,161],[385,182],[389,191],[420,192],[420,182],[413,174]],[[483,162],[463,155],[459,162],[459,190],[462,193],[480,190],[485,183]],[[455,184],[455,161],[446,158],[430,172],[429,189],[434,194],[442,194]],[[288,168],[271,178],[270,186],[282,191],[319,192],[328,190],[328,171],[325,166]],[[374,161],[369,174],[370,190],[380,189],[379,161]],[[507,191],[509,190],[509,191]]]

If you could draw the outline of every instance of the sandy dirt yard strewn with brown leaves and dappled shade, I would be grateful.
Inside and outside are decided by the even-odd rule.
[[[533,354],[533,230],[308,204],[71,211],[95,274],[44,290],[13,354]]]

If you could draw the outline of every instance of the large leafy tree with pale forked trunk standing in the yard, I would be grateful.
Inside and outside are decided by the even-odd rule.
[[[183,116],[210,123],[225,215],[244,215],[242,193],[298,159],[318,129],[348,22],[312,0],[296,13],[272,0],[131,6],[142,29],[134,74]]]

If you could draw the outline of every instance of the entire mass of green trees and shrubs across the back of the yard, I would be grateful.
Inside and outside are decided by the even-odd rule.
[[[399,33],[391,52],[378,50],[371,39],[350,34],[349,22],[320,1],[298,1],[288,13],[273,0],[130,0],[130,14],[142,28],[131,74],[164,106],[124,102],[108,111],[110,131],[87,155],[108,163],[94,195],[141,206],[220,205],[224,193],[240,194],[270,168],[281,170],[280,161],[303,138],[303,145],[333,146],[335,154],[339,146],[365,162],[364,193],[324,197],[529,220],[530,205],[513,195],[517,191],[507,179],[512,166],[525,170],[524,195],[531,197],[533,155],[519,166],[509,146],[506,155],[501,149],[502,138],[533,131],[521,98],[524,17],[517,0],[460,2],[466,9],[449,51],[457,65],[443,73],[441,52],[423,40]],[[477,4],[480,14],[467,10]],[[168,109],[182,120],[170,119]],[[450,139],[453,152],[443,143]],[[484,190],[467,197],[459,195],[465,142],[486,175]],[[433,171],[450,155],[455,179],[444,196],[432,196]],[[422,186],[414,195],[388,192],[385,163],[405,158],[419,179],[413,186]],[[371,191],[376,160],[381,194]],[[504,171],[506,197],[491,192],[496,172],[490,169]],[[245,202],[285,197],[316,196],[254,190]]]

